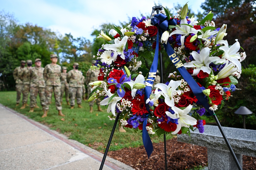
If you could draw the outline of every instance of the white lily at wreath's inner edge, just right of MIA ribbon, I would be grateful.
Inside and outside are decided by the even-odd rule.
[[[173,96],[174,94],[178,93],[179,95],[181,94],[180,90],[176,90],[178,86],[181,84],[181,81],[173,81],[171,80],[168,86],[163,83],[158,83],[155,85],[155,87],[158,87],[160,90],[162,90],[162,95],[164,96],[164,101],[165,103],[173,107],[174,106],[174,99]]]

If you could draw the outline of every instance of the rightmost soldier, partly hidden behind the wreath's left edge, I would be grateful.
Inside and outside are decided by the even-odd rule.
[[[96,63],[96,61],[95,60],[92,60],[92,65],[94,65]],[[91,82],[94,82],[94,81],[97,81],[98,80],[98,74],[99,74],[99,70],[91,70],[91,69],[89,69],[87,72],[86,72],[86,80],[85,80],[85,82],[86,82],[86,85],[87,85],[87,87],[88,87],[88,94],[90,95],[90,93],[91,93],[91,86],[89,86],[89,83],[91,83]],[[88,96],[89,96],[88,95]],[[90,113],[92,113],[92,111],[93,111],[93,104],[94,104],[94,100],[93,101],[90,101],[89,102],[89,106],[90,106]],[[100,99],[97,99],[96,100],[96,104],[97,104],[97,106],[98,106],[98,111],[103,111],[103,110],[101,110],[101,108],[100,108]]]

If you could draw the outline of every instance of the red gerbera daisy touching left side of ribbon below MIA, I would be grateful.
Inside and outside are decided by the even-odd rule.
[[[144,113],[147,113],[147,109],[145,107],[145,101],[144,101],[144,95],[140,96],[137,95],[133,100],[132,100],[132,113],[135,115],[142,115]]]

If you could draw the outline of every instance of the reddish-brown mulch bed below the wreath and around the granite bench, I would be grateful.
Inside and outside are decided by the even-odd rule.
[[[154,151],[148,160],[144,146],[110,151],[108,156],[136,170],[164,170],[164,143],[153,143],[153,146]],[[167,140],[166,147],[168,170],[184,170],[207,166],[207,148],[205,147],[178,142],[177,138]],[[243,169],[256,169],[256,158],[243,155]]]

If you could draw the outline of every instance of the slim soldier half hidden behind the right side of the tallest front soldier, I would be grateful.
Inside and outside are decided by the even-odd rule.
[[[60,104],[62,105],[62,98],[65,92],[67,105],[69,104],[69,90],[68,90],[68,82],[67,82],[67,67],[62,67],[62,73],[60,76],[60,82],[61,82],[61,93],[60,93]]]

